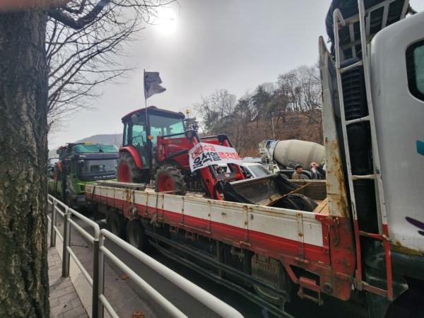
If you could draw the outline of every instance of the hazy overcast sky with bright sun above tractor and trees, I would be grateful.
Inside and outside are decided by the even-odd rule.
[[[411,0],[424,10],[423,0]],[[225,88],[239,98],[278,74],[318,59],[327,0],[179,0],[160,25],[146,25],[122,61],[136,65],[123,84],[103,86],[95,111],[81,111],[49,134],[57,148],[122,131],[121,117],[144,107],[143,69],[159,71],[167,90],[148,105],[181,111]],[[171,19],[172,18],[172,22]]]

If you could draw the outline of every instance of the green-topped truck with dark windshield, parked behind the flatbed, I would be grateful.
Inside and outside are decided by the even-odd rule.
[[[57,150],[58,160],[48,165],[49,194],[71,208],[86,207],[85,187],[100,180],[117,179],[116,146],[101,143],[68,143]]]

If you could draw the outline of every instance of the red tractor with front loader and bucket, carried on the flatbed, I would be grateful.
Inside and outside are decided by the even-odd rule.
[[[221,172],[208,165],[192,172],[189,151],[197,143],[232,147],[227,135],[199,137],[184,127],[184,114],[150,106],[122,117],[124,141],[119,149],[118,181],[147,184],[154,177],[156,192],[184,195],[206,192],[211,199],[294,208],[312,211],[316,204],[302,194],[299,186],[281,175],[245,179],[240,165],[228,163]],[[201,185],[198,187],[197,185]],[[195,189],[194,189],[195,188]]]

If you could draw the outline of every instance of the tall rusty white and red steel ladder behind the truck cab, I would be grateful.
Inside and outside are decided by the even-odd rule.
[[[372,107],[372,95],[371,95],[371,83],[370,83],[370,61],[369,61],[369,52],[367,47],[367,41],[370,40],[372,35],[370,35],[370,17],[371,13],[376,10],[382,10],[382,28],[387,25],[387,16],[389,14],[389,5],[394,2],[394,0],[382,1],[381,3],[367,8],[365,10],[364,1],[358,0],[358,14],[351,16],[348,19],[344,19],[341,11],[336,8],[333,13],[333,28],[334,28],[334,50],[336,55],[336,79],[337,79],[337,88],[338,88],[338,98],[340,103],[340,112],[341,112],[341,128],[343,131],[343,144],[344,151],[346,155],[346,166],[348,172],[348,186],[349,192],[351,194],[351,208],[353,213],[353,224],[355,232],[355,245],[356,245],[356,271],[355,271],[355,286],[358,290],[367,290],[371,293],[376,293],[382,295],[389,300],[393,300],[393,282],[392,282],[392,273],[391,273],[391,257],[390,257],[390,241],[389,241],[389,230],[387,228],[387,214],[386,206],[384,201],[384,191],[382,184],[382,174],[380,170],[380,160],[379,160],[379,151],[377,145],[377,135],[375,129],[375,119],[374,119],[374,110]],[[406,10],[408,8],[408,0],[404,1],[404,6],[401,12],[401,18],[406,16]],[[366,21],[366,22],[365,22]],[[351,43],[348,45],[350,47],[352,56],[358,57],[358,52],[356,45],[358,40],[355,41],[355,30],[354,23],[358,23],[360,26],[360,52],[362,53],[362,58],[356,61],[354,64],[351,64],[346,67],[341,67],[341,55],[343,54],[343,49],[340,46],[340,37],[339,30],[341,28],[347,27],[349,30],[349,35],[351,37]],[[346,47],[346,46],[345,46]],[[365,117],[358,119],[346,120],[345,116],[345,105],[343,101],[343,83],[341,75],[344,72],[355,69],[356,67],[363,67],[364,80],[365,80],[365,93],[367,98],[367,110],[368,114]],[[360,122],[369,122],[370,124],[370,134],[371,134],[371,147],[372,147],[372,161],[374,164],[373,173],[371,175],[353,175],[351,167],[351,156],[349,152],[348,144],[348,134],[347,126]],[[360,230],[360,224],[358,224],[358,213],[357,205],[355,201],[355,188],[353,187],[353,182],[355,180],[361,179],[373,179],[375,180],[375,198],[377,203],[377,223],[379,228],[379,233],[372,233]],[[378,288],[376,286],[370,285],[369,283],[363,281],[362,274],[362,257],[361,257],[361,246],[360,246],[360,237],[371,237],[374,240],[380,240],[384,244],[384,254],[386,262],[386,276],[387,276],[387,289]]]

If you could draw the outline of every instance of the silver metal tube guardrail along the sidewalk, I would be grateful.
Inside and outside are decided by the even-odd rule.
[[[72,257],[73,261],[75,261],[76,266],[81,270],[83,275],[86,277],[88,283],[90,283],[93,288],[93,311],[92,317],[95,318],[103,318],[104,317],[104,309],[110,314],[111,317],[116,318],[119,317],[117,313],[114,311],[112,305],[105,297],[105,257],[110,259],[119,269],[122,269],[134,283],[136,283],[144,293],[149,295],[158,305],[162,306],[163,309],[170,315],[170,317],[187,317],[183,312],[181,312],[175,305],[167,300],[163,295],[158,293],[151,285],[146,283],[137,273],[132,271],[124,262],[115,256],[110,249],[105,247],[105,240],[110,240],[114,242],[115,245],[124,249],[126,252],[129,252],[132,256],[139,259],[139,261],[146,264],[151,269],[167,278],[167,280],[171,281],[179,288],[184,290],[186,293],[191,295],[196,300],[199,300],[206,307],[210,308],[221,317],[229,317],[229,318],[242,318],[242,314],[235,310],[233,307],[223,302],[222,300],[216,298],[210,293],[206,292],[206,290],[200,288],[198,285],[195,285],[191,281],[182,277],[175,271],[167,268],[160,262],[156,261],[152,257],[149,257],[147,254],[141,252],[136,247],[130,245],[128,242],[120,239],[116,235],[112,234],[108,230],[100,230],[100,227],[93,220],[90,220],[86,216],[83,216],[81,213],[69,208],[63,202],[54,198],[49,194],[48,199],[48,207],[52,211],[52,217],[47,216],[50,222],[50,247],[54,247],[56,245],[56,235],[58,235],[63,242],[63,257],[62,257],[62,276],[69,276],[69,264],[70,257]],[[61,211],[61,208],[64,211]],[[57,228],[57,213],[59,216],[64,218],[64,234],[61,235],[59,229]],[[94,236],[90,235],[86,230],[84,230],[81,225],[78,225],[72,217],[76,217],[82,220],[87,225],[90,225],[94,230]],[[81,264],[81,261],[78,260],[76,254],[71,249],[71,226],[75,228],[79,234],[85,237],[89,242],[93,244],[93,278],[86,271],[86,269]]]

